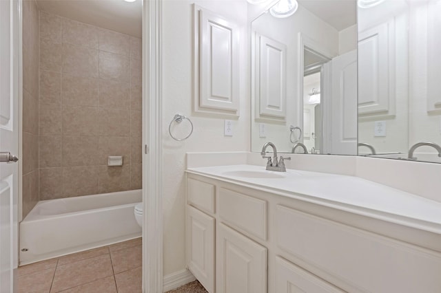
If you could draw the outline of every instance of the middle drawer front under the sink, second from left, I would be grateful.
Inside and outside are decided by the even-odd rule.
[[[220,219],[238,230],[267,239],[267,202],[243,193],[220,188]]]

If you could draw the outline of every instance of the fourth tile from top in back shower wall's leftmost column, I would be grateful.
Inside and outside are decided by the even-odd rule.
[[[61,135],[60,105],[40,103],[40,135]]]

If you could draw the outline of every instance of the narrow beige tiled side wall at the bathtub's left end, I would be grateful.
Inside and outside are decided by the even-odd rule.
[[[23,1],[23,218],[39,201],[39,10]]]

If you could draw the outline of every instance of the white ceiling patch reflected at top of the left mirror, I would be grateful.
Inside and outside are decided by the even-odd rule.
[[[339,32],[357,23],[356,0],[298,0],[298,4]]]

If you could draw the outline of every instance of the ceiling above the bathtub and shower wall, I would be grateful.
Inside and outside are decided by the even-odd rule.
[[[45,12],[142,37],[141,0],[37,0],[37,4]]]

